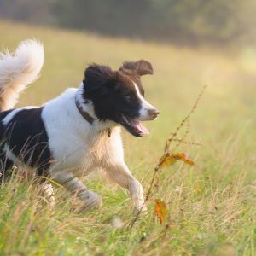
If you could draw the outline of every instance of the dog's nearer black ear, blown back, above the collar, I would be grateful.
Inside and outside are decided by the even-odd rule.
[[[97,90],[113,79],[115,73],[108,66],[92,64],[84,71],[84,87],[87,91]]]

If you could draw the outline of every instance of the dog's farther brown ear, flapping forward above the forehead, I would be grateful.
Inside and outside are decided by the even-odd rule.
[[[140,61],[125,61],[123,66],[119,68],[120,71],[132,70],[138,75],[143,76],[146,74],[153,74],[153,67],[150,62],[140,60]]]

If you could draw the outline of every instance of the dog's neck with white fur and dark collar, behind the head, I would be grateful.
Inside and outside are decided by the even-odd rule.
[[[78,111],[82,118],[90,123],[97,131],[107,131],[108,136],[111,134],[113,127],[117,126],[113,121],[101,121],[97,118],[96,113],[94,112],[93,103],[90,100],[84,100],[84,84],[79,85],[79,89],[75,95],[75,102],[78,108]],[[84,114],[83,114],[84,113]]]

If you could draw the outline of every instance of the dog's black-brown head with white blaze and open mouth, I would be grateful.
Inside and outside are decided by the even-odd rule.
[[[125,62],[118,71],[90,65],[84,72],[84,99],[89,99],[100,120],[123,125],[133,136],[148,134],[140,121],[153,120],[159,111],[144,98],[140,77],[153,74],[148,61]]]

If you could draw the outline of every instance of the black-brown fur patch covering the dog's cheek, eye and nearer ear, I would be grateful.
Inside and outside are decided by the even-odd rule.
[[[124,125],[134,136],[131,125],[125,118],[137,119],[141,100],[132,80],[110,67],[91,65],[85,70],[84,101],[93,103],[96,116],[100,120],[113,120]]]

